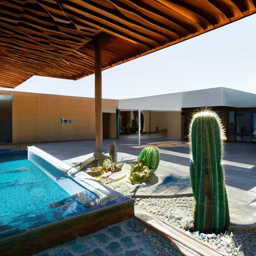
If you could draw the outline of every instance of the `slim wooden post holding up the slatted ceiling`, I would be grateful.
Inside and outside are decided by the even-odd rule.
[[[95,65],[95,156],[102,155],[102,85],[101,85],[101,41],[100,36],[95,38],[94,49]]]

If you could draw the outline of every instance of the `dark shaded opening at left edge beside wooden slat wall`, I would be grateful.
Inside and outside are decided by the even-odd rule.
[[[0,141],[12,139],[11,100],[0,103]]]

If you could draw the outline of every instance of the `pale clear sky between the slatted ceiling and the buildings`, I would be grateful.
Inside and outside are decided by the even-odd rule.
[[[256,14],[102,72],[103,98],[229,87],[256,93]],[[33,76],[15,90],[94,97],[94,75]]]

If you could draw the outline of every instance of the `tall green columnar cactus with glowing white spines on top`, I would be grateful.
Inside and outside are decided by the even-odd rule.
[[[229,211],[221,165],[223,128],[215,112],[196,113],[190,124],[190,178],[195,198],[194,229],[223,233]]]

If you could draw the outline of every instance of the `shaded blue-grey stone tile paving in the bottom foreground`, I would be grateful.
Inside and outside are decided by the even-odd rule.
[[[167,242],[133,218],[42,251],[36,256],[178,256]]]

